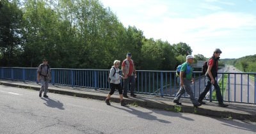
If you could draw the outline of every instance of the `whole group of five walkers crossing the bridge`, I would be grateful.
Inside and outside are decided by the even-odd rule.
[[[186,92],[188,93],[189,98],[193,103],[193,106],[200,107],[200,105],[205,104],[205,102],[203,101],[205,98],[205,95],[213,85],[216,90],[218,105],[220,107],[228,106],[227,104],[223,103],[223,97],[221,95],[220,86],[218,86],[218,82],[216,82],[216,77],[218,72],[218,60],[220,59],[221,53],[222,53],[221,50],[219,48],[216,48],[213,52],[212,57],[207,61],[208,68],[205,73],[206,84],[205,84],[204,91],[200,93],[198,100],[196,100],[193,94],[193,90],[191,88],[191,84],[193,84],[194,82],[193,67],[191,66],[191,64],[193,64],[194,62],[194,57],[191,55],[186,56],[186,62],[181,65],[181,69],[179,73],[180,89],[176,94],[173,100],[173,103],[176,103],[177,105],[182,105],[182,103],[180,103],[179,100],[182,94]],[[110,92],[105,100],[107,105],[111,105],[109,100],[111,95],[115,93],[116,89],[119,92],[120,104],[122,106],[125,106],[124,98],[129,98],[127,96],[128,87],[130,87],[130,95],[132,97],[136,97],[136,94],[134,94],[136,70],[135,70],[134,62],[132,61],[131,57],[132,57],[132,54],[127,53],[126,59],[124,59],[124,61],[122,62],[123,75],[119,74],[120,61],[118,60],[114,61],[113,66],[109,71]],[[124,79],[124,87],[121,86],[121,79]],[[48,98],[47,90],[48,90],[49,80],[51,80],[51,69],[49,67],[47,59],[44,59],[43,63],[40,64],[37,69],[37,81],[38,82],[40,81],[41,83],[39,97],[42,97],[42,92],[44,91],[43,97]]]

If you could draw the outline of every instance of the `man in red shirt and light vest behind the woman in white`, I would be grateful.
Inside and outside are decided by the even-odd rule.
[[[131,86],[129,87],[130,87],[131,96],[136,97],[136,94],[134,94],[136,70],[131,57],[132,57],[132,54],[130,52],[127,53],[126,59],[122,63],[122,72],[124,77],[126,77],[126,79],[124,79],[124,93],[123,93],[123,96],[125,98],[128,98],[127,90],[128,90],[128,85],[130,83],[131,83]]]

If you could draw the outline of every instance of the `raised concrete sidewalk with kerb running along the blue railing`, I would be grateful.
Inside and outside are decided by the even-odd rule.
[[[40,89],[40,84],[36,84],[35,82],[0,80],[0,84],[4,86],[20,87],[24,89],[34,89],[36,91],[39,91]],[[102,100],[102,103],[105,103],[104,100],[106,99],[109,91],[68,86],[52,86],[50,84],[49,93],[92,98]],[[111,101],[119,103],[120,99],[117,93],[118,92],[116,91],[115,94],[111,96]],[[51,97],[51,94],[49,94],[49,97]],[[129,105],[138,105],[140,107],[170,110],[173,112],[188,112],[198,115],[207,115],[213,117],[223,117],[228,119],[239,119],[256,122],[256,105],[226,102],[229,106],[223,108],[218,107],[218,103],[207,102],[206,105],[195,108],[193,107],[190,100],[186,98],[182,98],[180,100],[180,102],[182,102],[182,106],[175,105],[172,100],[173,98],[162,98],[160,96],[137,94],[136,98],[125,98],[125,103],[129,103]]]

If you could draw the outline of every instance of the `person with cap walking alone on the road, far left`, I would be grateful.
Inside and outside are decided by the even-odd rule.
[[[43,63],[40,64],[37,68],[37,81],[41,82],[39,97],[42,97],[42,92],[44,91],[44,98],[48,98],[47,91],[49,86],[49,80],[51,80],[51,69],[47,59],[44,59]]]

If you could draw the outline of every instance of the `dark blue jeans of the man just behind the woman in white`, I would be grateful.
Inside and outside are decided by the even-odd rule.
[[[134,94],[134,89],[135,89],[135,78],[134,75],[128,76],[128,78],[124,79],[124,95],[127,95],[128,91],[128,85],[131,83],[130,87],[130,93]]]

